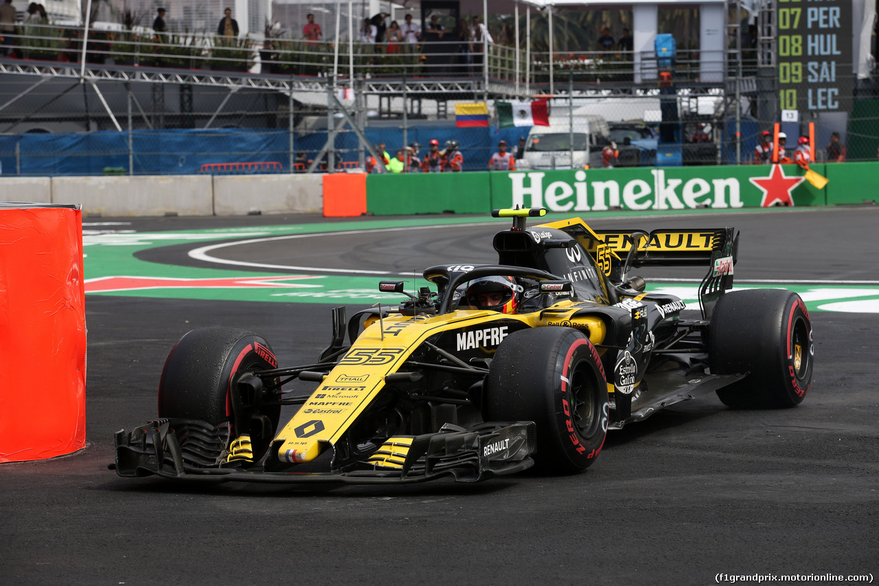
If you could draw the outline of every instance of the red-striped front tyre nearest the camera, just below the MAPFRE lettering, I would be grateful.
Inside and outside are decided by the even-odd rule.
[[[534,421],[538,468],[582,472],[607,435],[607,379],[592,342],[570,327],[510,334],[483,396],[485,421]]]

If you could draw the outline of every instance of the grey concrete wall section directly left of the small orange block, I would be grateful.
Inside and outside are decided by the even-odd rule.
[[[320,212],[323,175],[214,175],[214,214]]]

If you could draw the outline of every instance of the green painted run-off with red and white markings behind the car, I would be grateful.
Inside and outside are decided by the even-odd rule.
[[[732,211],[732,209],[730,209]],[[717,213],[714,209],[695,209],[688,213]],[[677,214],[676,210],[654,210],[649,214],[628,213],[627,216],[658,216]],[[753,213],[772,213],[754,210]],[[571,214],[550,214],[542,221],[570,217]],[[619,211],[592,212],[589,218],[618,217]],[[536,220],[536,218],[534,218]],[[352,304],[367,306],[376,303],[397,304],[399,294],[378,290],[381,280],[403,280],[406,289],[427,286],[420,276],[356,275],[309,273],[303,271],[240,270],[218,264],[216,268],[186,267],[140,260],[135,254],[149,248],[191,244],[193,249],[217,242],[236,239],[272,238],[287,235],[352,233],[381,229],[418,229],[436,225],[488,225],[498,230],[506,227],[507,219],[483,217],[432,216],[409,219],[363,219],[341,223],[305,223],[252,228],[229,228],[193,231],[96,231],[84,236],[85,288],[88,296],[156,297],[225,301],[261,301],[275,303]],[[536,223],[536,221],[534,222]],[[315,267],[319,268],[319,267]],[[685,300],[690,309],[698,309],[698,283],[652,282],[651,291],[665,291]],[[738,283],[737,289],[775,287],[791,289],[803,297],[810,311],[879,312],[879,286],[861,284]]]

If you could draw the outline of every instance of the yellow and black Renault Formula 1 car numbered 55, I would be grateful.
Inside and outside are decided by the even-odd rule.
[[[737,234],[595,231],[544,209],[499,209],[497,265],[425,269],[435,286],[345,319],[316,362],[279,367],[256,333],[186,333],[158,390],[160,419],[116,434],[121,476],[409,483],[486,480],[536,464],[585,470],[608,429],[708,392],[730,407],[793,407],[809,391],[809,313],[781,289],[727,292]],[[701,315],[645,293],[644,266],[708,267]],[[688,313],[694,314],[695,311]],[[345,342],[347,335],[348,342]],[[309,396],[284,392],[294,379]],[[297,383],[298,384],[298,383]],[[298,411],[276,433],[283,405]]]

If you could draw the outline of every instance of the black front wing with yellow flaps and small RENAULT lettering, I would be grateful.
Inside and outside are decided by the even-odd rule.
[[[213,482],[412,484],[446,477],[478,482],[534,465],[535,429],[533,421],[468,429],[447,425],[437,433],[391,437],[371,457],[338,471],[295,472],[295,466],[272,470],[278,463],[272,448],[256,464],[227,463],[229,423],[159,419],[130,433],[116,432],[116,461],[110,467],[120,476]],[[389,447],[403,444],[406,449],[396,453]]]

